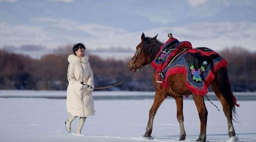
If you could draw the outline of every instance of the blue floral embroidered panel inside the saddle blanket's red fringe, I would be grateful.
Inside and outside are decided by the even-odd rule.
[[[197,49],[204,52],[214,52],[206,47],[200,47]],[[204,82],[206,78],[208,78],[208,76],[210,75],[212,68],[214,68],[214,66],[222,60],[224,59],[218,54],[209,54],[202,56],[202,54],[200,53],[190,53],[186,51],[184,54],[181,54],[177,58],[175,58],[170,66],[164,68],[164,70],[162,71],[162,80],[165,80],[168,70],[176,67],[183,67],[187,70],[187,83],[196,89],[202,89],[204,87]]]

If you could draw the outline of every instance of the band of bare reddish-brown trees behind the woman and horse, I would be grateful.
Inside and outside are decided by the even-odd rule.
[[[0,50],[0,89],[65,90],[68,86],[67,57],[72,47],[47,54],[40,59]],[[58,51],[60,49],[57,49]],[[243,48],[225,49],[219,54],[228,62],[228,75],[233,91],[256,90],[256,53]],[[132,57],[133,55],[131,55]],[[89,55],[96,87],[123,80],[129,71],[129,60],[102,59]],[[120,85],[106,90],[154,91],[150,65]]]

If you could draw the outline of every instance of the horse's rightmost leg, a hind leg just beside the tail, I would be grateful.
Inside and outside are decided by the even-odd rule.
[[[228,136],[235,136],[236,132],[232,123],[232,109],[230,107],[230,105],[228,105],[226,99],[223,97],[223,95],[220,93],[220,90],[218,89],[216,82],[212,82],[211,84],[212,89],[214,91],[214,93],[216,94],[216,96],[218,97],[218,99],[220,100],[220,103],[222,104],[222,109],[224,111],[224,114],[228,120]]]

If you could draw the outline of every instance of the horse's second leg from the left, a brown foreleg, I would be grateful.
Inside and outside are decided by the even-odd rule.
[[[177,106],[177,119],[180,124],[180,139],[179,140],[185,140],[186,139],[186,132],[184,129],[184,117],[183,117],[183,96],[181,97],[174,97],[176,101]]]

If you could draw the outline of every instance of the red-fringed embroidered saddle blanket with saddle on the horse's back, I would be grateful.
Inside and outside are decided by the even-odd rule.
[[[215,77],[214,72],[226,65],[226,60],[215,51],[206,47],[193,49],[190,42],[179,42],[175,38],[168,39],[152,61],[156,74],[161,74],[164,88],[168,87],[170,75],[185,74],[186,86],[197,95],[208,93],[208,86]]]

